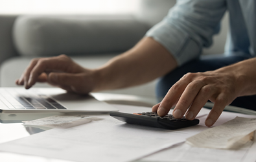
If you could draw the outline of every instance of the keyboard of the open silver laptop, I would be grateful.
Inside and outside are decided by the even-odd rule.
[[[0,91],[0,100],[9,109],[67,109],[56,100],[47,97],[46,95],[38,95],[32,93],[21,94],[18,91]]]

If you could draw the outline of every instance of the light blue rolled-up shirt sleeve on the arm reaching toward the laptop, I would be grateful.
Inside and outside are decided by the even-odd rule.
[[[225,0],[177,0],[167,17],[146,32],[163,45],[183,65],[198,58],[220,29],[226,12]]]

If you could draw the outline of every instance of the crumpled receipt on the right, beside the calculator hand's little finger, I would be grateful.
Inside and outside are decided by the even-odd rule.
[[[256,118],[236,117],[187,138],[186,143],[204,148],[240,148],[253,140],[255,130]]]

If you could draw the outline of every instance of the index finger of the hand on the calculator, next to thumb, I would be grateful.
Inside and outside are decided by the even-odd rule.
[[[169,89],[167,95],[165,95],[165,98],[163,98],[157,110],[157,114],[160,117],[167,115],[167,113],[170,111],[170,108],[176,104],[177,100],[180,98],[189,82],[191,82],[191,80],[179,80]]]

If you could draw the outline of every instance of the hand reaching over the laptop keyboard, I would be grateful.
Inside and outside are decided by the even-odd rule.
[[[36,82],[47,82],[68,92],[80,94],[87,94],[95,87],[93,70],[81,67],[64,54],[51,58],[34,58],[19,80],[16,80],[17,85],[23,85],[26,89]]]

